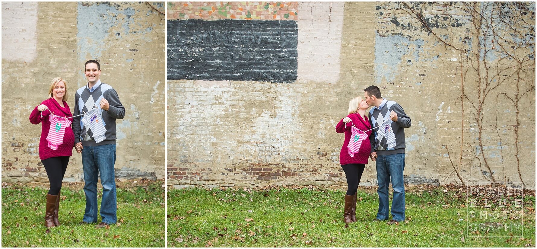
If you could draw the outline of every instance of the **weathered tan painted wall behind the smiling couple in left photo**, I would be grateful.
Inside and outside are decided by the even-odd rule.
[[[2,3],[2,181],[48,181],[41,125],[28,117],[54,77],[67,81],[72,112],[89,59],[100,61],[100,80],[126,109],[117,120],[116,177],[164,178],[163,13],[163,2]],[[73,153],[64,181],[83,180]]]

